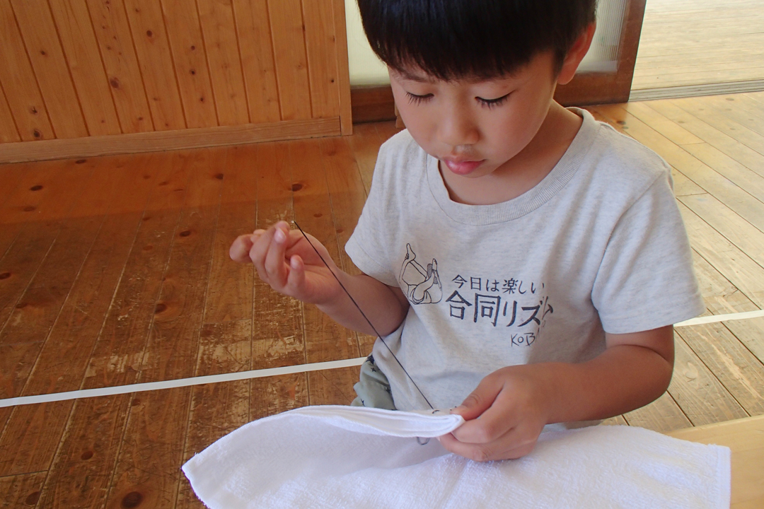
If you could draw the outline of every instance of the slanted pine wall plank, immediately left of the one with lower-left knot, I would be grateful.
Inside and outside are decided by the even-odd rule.
[[[85,122],[91,136],[120,134],[117,111],[95,41],[87,5],[79,0],[50,2],[66,63],[72,72]]]

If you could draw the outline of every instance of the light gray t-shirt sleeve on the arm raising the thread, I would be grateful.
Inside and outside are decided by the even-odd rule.
[[[390,192],[391,161],[390,150],[385,150],[386,148],[388,147],[383,145],[380,149],[371,190],[361,211],[361,217],[358,218],[358,224],[345,244],[345,252],[364,274],[371,275],[385,285],[397,286],[397,274],[391,269],[389,251],[393,238],[390,228],[397,224],[398,208],[393,203]]]

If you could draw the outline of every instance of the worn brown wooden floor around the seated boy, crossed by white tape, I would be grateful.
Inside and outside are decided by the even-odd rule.
[[[764,93],[591,108],[675,169],[709,314],[764,307]],[[0,166],[0,398],[358,357],[370,337],[228,260],[280,219],[338,264],[392,124],[349,138]],[[684,327],[669,393],[611,422],[764,413],[764,318]],[[0,408],[0,507],[202,507],[180,466],[358,369]]]

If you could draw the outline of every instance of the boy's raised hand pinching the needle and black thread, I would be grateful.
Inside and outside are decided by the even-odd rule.
[[[309,236],[335,274],[339,269],[326,248]],[[299,230],[290,230],[280,221],[267,230],[240,235],[231,244],[231,259],[253,263],[257,274],[277,292],[311,304],[325,304],[335,299],[342,287]]]

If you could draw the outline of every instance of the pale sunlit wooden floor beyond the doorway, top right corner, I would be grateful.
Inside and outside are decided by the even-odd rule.
[[[647,0],[633,90],[762,81],[764,0]]]

